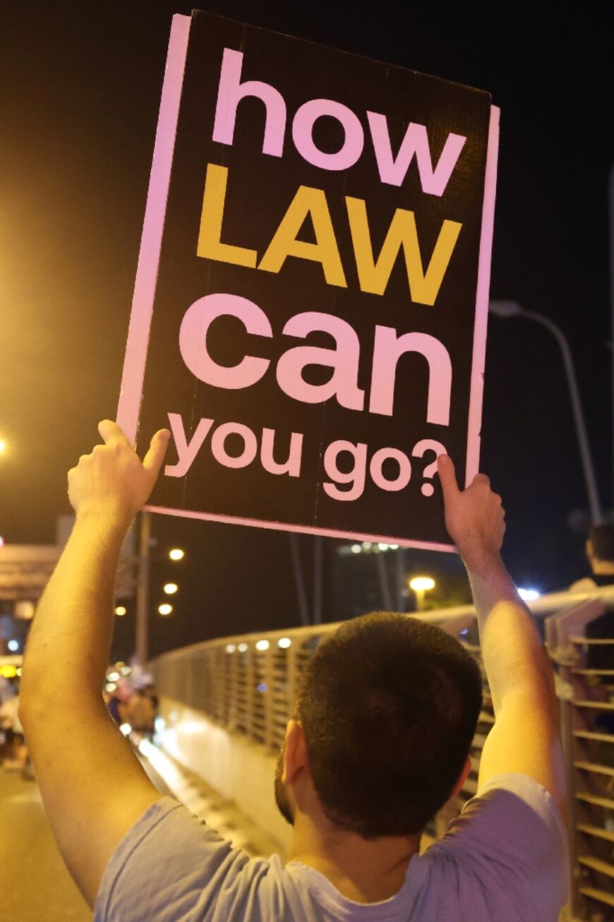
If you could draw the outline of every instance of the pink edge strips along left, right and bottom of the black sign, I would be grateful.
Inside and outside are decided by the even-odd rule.
[[[128,326],[124,356],[124,371],[117,408],[117,423],[126,437],[136,443],[138,416],[143,394],[143,381],[148,354],[149,329],[156,294],[159,254],[164,230],[164,219],[171,182],[171,167],[179,118],[179,106],[183,87],[183,72],[190,34],[191,18],[177,14],[172,18],[171,36],[164,71],[164,82],[160,98],[158,127],[154,144],[151,172],[149,176],[148,199],[143,221],[143,233],[136,267],[135,291]],[[489,310],[490,254],[494,225],[494,204],[497,182],[497,152],[499,147],[499,116],[497,106],[490,107],[489,139],[484,180],[484,200],[478,254],[478,287],[474,323],[473,355],[471,361],[471,385],[467,422],[466,486],[478,473],[481,430],[482,397],[484,391],[484,364],[486,360],[486,329]],[[238,516],[214,513],[196,513],[148,505],[149,512],[178,515],[184,518],[200,518],[212,522],[269,528],[278,531],[321,535],[327,538],[349,538],[398,544],[402,547],[422,550],[445,550],[455,552],[452,544],[431,541],[407,540],[385,535],[363,535],[357,532],[338,531],[332,528],[299,526],[282,522],[266,522],[261,519],[247,519]]]

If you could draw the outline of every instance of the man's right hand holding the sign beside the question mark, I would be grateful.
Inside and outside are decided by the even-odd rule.
[[[501,496],[490,490],[486,474],[476,474],[471,486],[459,490],[455,466],[448,455],[437,458],[437,470],[443,490],[445,527],[467,569],[483,575],[493,563],[501,563],[499,552],[505,533]]]

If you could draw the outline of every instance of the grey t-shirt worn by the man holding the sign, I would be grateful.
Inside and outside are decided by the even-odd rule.
[[[526,775],[500,774],[411,858],[395,896],[367,905],[300,862],[248,857],[161,798],[115,849],[94,922],[556,922],[568,890],[557,806]]]

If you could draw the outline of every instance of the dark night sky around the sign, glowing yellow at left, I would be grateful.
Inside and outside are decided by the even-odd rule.
[[[502,109],[491,298],[543,313],[569,338],[609,510],[611,32],[605,5],[537,6],[399,2],[359,14],[348,3],[229,0],[201,8],[490,91]],[[2,4],[7,542],[53,542],[55,517],[69,511],[65,471],[98,441],[98,420],[114,418],[171,15],[190,10],[128,0]],[[490,319],[481,456],[507,509],[504,557],[516,581],[569,585],[585,572],[584,479],[560,353],[528,321]],[[177,611],[153,620],[153,652],[299,623],[288,536],[166,516],[153,528],[160,558],[175,543],[187,551],[172,571],[182,586]],[[325,540],[331,617],[344,609],[337,568],[347,559],[337,545]],[[311,539],[301,538],[301,552],[309,579]],[[366,555],[351,564],[375,573]],[[408,552],[407,564],[458,572],[449,555]],[[154,561],[152,602],[170,574],[171,564]],[[130,613],[118,628],[129,652]]]

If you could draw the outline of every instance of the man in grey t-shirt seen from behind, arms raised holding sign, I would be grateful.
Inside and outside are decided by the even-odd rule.
[[[305,669],[277,773],[293,824],[286,866],[250,860],[151,785],[100,689],[119,552],[169,434],[141,463],[115,423],[100,423],[104,444],[69,472],[76,525],[24,662],[20,712],[42,798],[95,918],[555,922],[569,859],[549,660],[501,561],[501,499],[481,474],[460,491],[447,456],[445,521],[471,581],[496,721],[478,796],[443,839],[419,855],[425,822],[469,771],[481,681],[460,644],[407,616],[342,625]]]

